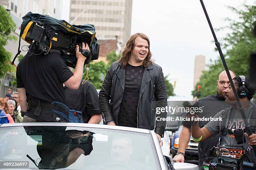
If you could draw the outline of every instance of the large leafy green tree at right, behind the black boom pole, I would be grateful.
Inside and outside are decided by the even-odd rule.
[[[243,10],[234,7],[229,7],[229,9],[238,14],[239,22],[226,19],[230,22],[230,26],[226,28],[229,28],[231,32],[223,38],[224,43],[221,47],[225,50],[224,56],[228,69],[234,71],[236,75],[248,75],[249,57],[251,52],[256,50],[256,38],[252,32],[253,22],[256,21],[256,5],[243,5]],[[200,97],[217,92],[216,80],[223,70],[224,67],[219,58],[209,65],[209,70],[203,72],[197,83],[201,85]],[[194,97],[196,94],[197,89],[192,91]]]

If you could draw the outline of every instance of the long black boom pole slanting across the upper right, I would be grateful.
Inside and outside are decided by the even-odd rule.
[[[238,105],[238,107],[239,107],[239,111],[241,112],[241,115],[242,115],[242,118],[243,118],[243,123],[244,123],[245,129],[246,129],[246,132],[247,132],[247,134],[250,136],[250,135],[252,135],[252,133],[251,133],[251,126],[249,125],[249,123],[248,123],[248,121],[247,121],[247,118],[246,118],[246,115],[245,115],[245,113],[244,113],[243,107],[242,107],[241,102],[240,102],[240,100],[239,100],[239,98],[238,98],[238,94],[237,94],[237,92],[236,92],[236,88],[235,88],[234,82],[233,82],[233,80],[232,80],[232,78],[231,78],[231,75],[230,75],[230,72],[229,72],[229,70],[228,70],[228,65],[227,65],[227,63],[226,63],[226,61],[225,61],[225,58],[224,58],[223,53],[222,53],[222,50],[221,50],[221,48],[220,48],[220,42],[218,42],[218,39],[217,39],[217,37],[216,37],[216,35],[215,35],[215,32],[214,32],[214,30],[213,30],[213,28],[212,28],[212,23],[211,23],[211,21],[210,21],[210,18],[209,18],[208,14],[207,14],[206,9],[205,9],[204,2],[203,2],[202,0],[200,0],[200,2],[201,2],[201,5],[202,5],[203,10],[204,10],[204,12],[205,12],[205,16],[206,16],[207,22],[208,22],[208,24],[209,24],[209,26],[210,26],[210,29],[211,29],[211,31],[212,31],[212,35],[213,35],[213,38],[214,38],[214,41],[215,41],[215,45],[216,45],[216,47],[217,47],[217,49],[218,49],[218,52],[219,52],[219,54],[220,54],[220,58],[221,58],[221,60],[222,60],[223,66],[224,66],[224,68],[225,68],[225,71],[227,72],[228,80],[229,80],[230,85],[231,85],[231,87],[232,87],[233,93],[234,93],[234,95],[235,95],[235,97],[236,97],[236,102],[237,102],[237,105]],[[253,147],[254,153],[256,154],[256,146],[252,146],[252,147]]]

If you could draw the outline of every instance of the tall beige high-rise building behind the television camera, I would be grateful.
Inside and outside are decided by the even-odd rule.
[[[69,20],[74,25],[93,24],[98,39],[117,36],[124,47],[131,35],[131,12],[132,0],[71,0]]]

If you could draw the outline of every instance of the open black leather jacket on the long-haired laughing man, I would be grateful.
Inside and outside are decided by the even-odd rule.
[[[100,110],[103,121],[115,121],[118,125],[118,113],[125,87],[125,69],[113,62],[108,69],[99,93]],[[156,115],[156,107],[167,105],[164,75],[159,65],[152,63],[145,68],[141,80],[138,102],[137,127],[164,134],[166,121],[156,121],[156,117],[166,117],[166,112]]]

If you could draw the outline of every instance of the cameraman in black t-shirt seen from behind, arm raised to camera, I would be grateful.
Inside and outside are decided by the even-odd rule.
[[[87,43],[82,43],[82,50],[90,51]],[[78,89],[86,59],[79,52],[78,45],[76,57],[74,73],[69,70],[58,50],[50,50],[47,55],[29,50],[23,57],[16,71],[23,122],[67,122],[56,116],[52,109],[61,112],[60,107],[54,107],[51,102],[66,104],[63,84],[70,89]]]

